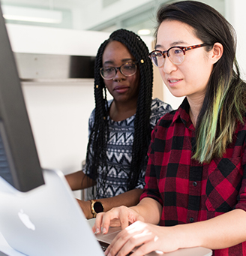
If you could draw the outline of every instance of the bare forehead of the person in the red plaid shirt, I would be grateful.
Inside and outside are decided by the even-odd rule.
[[[177,20],[165,20],[160,24],[157,31],[157,47],[169,48],[178,45],[198,44],[194,29],[186,23]]]

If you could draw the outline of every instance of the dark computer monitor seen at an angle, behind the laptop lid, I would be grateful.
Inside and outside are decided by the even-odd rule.
[[[44,184],[1,6],[0,176],[23,192]]]

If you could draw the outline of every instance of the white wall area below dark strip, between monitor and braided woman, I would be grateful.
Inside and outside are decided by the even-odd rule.
[[[23,83],[23,93],[41,166],[64,173],[81,170],[95,107],[93,82]]]

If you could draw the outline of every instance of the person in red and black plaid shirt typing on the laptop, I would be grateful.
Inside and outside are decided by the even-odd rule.
[[[132,256],[196,246],[214,256],[246,255],[246,83],[234,34],[202,2],[157,12],[149,56],[172,95],[186,98],[151,134],[139,204],[98,214],[95,232],[107,233],[111,220],[123,228],[106,255],[137,245]]]

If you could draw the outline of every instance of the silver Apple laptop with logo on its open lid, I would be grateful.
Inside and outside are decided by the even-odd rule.
[[[118,230],[111,228],[109,234],[96,238],[62,171],[43,170],[43,177],[45,184],[28,192],[18,191],[0,177],[0,231],[7,243],[30,256],[103,256],[97,238],[110,243]],[[197,247],[165,255],[211,254],[210,249]]]

